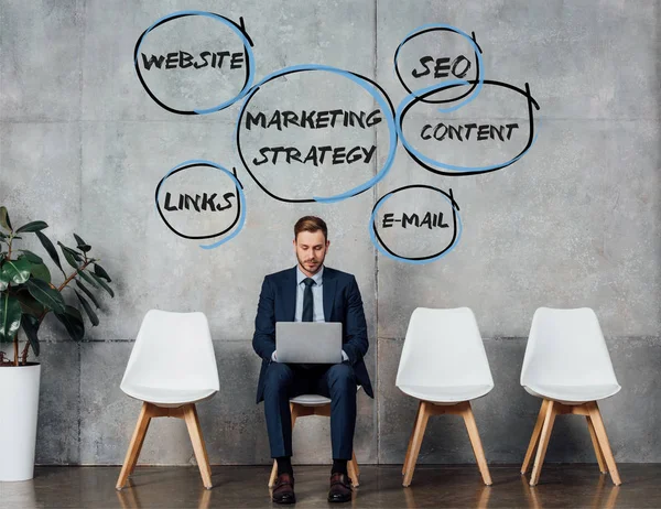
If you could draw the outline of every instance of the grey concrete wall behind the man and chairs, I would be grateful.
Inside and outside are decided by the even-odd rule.
[[[126,397],[119,382],[142,316],[153,307],[203,311],[209,318],[221,381],[220,393],[199,408],[210,461],[268,463],[263,411],[253,403],[259,369],[251,347],[254,312],[263,275],[294,264],[291,229],[305,214],[327,220],[327,264],[356,274],[365,301],[367,364],[377,399],[359,397],[359,462],[403,461],[415,409],[394,387],[394,378],[416,306],[469,306],[477,316],[496,388],[474,408],[492,463],[520,462],[534,424],[539,401],[519,386],[534,310],[593,307],[624,388],[602,404],[616,459],[661,462],[661,2],[635,3],[0,0],[0,203],[14,224],[46,220],[53,240],[72,245],[71,232],[80,235],[102,259],[117,292],[113,300],[101,296],[101,323],[94,328],[88,324],[80,344],[68,340],[54,320],[42,328],[37,463],[122,462],[140,403]],[[540,106],[533,123],[539,137],[514,164],[472,176],[424,170],[400,140],[387,176],[362,194],[330,204],[274,199],[249,175],[235,147],[242,101],[213,115],[177,115],[152,100],[137,77],[133,51],[140,34],[185,9],[216,12],[237,23],[243,18],[254,43],[254,83],[288,66],[323,64],[376,80],[395,108],[408,93],[393,71],[393,55],[409,33],[426,23],[475,32],[485,78],[519,88],[530,85]],[[161,47],[163,52],[185,50],[186,44],[199,48],[218,37],[242,51],[231,29],[223,25],[215,34],[204,21],[214,22],[203,20],[198,31],[177,32],[174,22],[154,29],[150,41],[155,45],[149,50],[169,41],[172,45]],[[402,68],[410,71],[427,51],[438,56],[448,47],[449,53],[465,52],[466,40],[449,40],[407,46]],[[153,89],[177,105],[213,107],[241,87],[227,69],[199,80],[191,76],[180,71],[149,74]],[[356,87],[328,73],[289,75],[261,87],[251,105],[263,110],[278,100],[283,109],[378,108]],[[426,105],[412,108],[408,118],[404,134],[407,126],[415,132],[438,119],[528,121],[525,109],[501,99],[492,87],[452,113]],[[326,136],[284,131],[243,132],[246,153],[258,155],[256,149],[283,144],[288,136],[290,144],[306,148],[324,144]],[[300,198],[337,194],[379,175],[388,160],[384,121],[328,136],[335,142],[344,137],[346,147],[376,143],[376,156],[355,167],[267,165],[256,176],[269,188]],[[436,161],[457,165],[511,158],[510,144],[489,143],[445,140],[424,147]],[[216,249],[198,246],[218,239],[175,235],[154,206],[160,180],[187,160],[236,167],[243,186],[245,226]],[[181,189],[201,188],[205,182],[182,181]],[[218,188],[232,191],[228,182]],[[452,188],[460,209],[458,243],[426,264],[384,256],[368,234],[377,201],[412,184]],[[420,198],[422,206],[429,205],[425,199]],[[392,210],[418,205],[412,194]],[[452,217],[452,207],[443,206],[445,218]],[[217,216],[210,227],[225,220]],[[202,231],[209,219],[184,218],[181,226]],[[410,248],[411,257],[425,254],[438,240],[410,229],[381,232]],[[43,252],[32,241],[25,247]],[[562,418],[556,426],[548,461],[594,461],[578,418]],[[327,420],[301,421],[294,448],[300,463],[328,462]],[[192,458],[181,422],[152,424],[142,462],[185,464]],[[434,419],[420,462],[473,462],[463,424],[455,418]]]

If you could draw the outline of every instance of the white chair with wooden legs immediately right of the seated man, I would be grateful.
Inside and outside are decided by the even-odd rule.
[[[487,394],[494,388],[494,379],[473,311],[413,311],[395,385],[420,400],[402,468],[403,486],[411,485],[427,420],[438,414],[464,418],[483,480],[491,485],[470,400]]]

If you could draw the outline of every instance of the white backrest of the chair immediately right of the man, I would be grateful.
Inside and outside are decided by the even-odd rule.
[[[395,385],[494,386],[485,346],[468,307],[411,314]]]

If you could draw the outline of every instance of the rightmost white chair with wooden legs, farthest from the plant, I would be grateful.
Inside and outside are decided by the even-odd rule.
[[[521,474],[525,474],[537,448],[530,486],[539,481],[555,416],[567,413],[587,418],[599,469],[606,474],[608,467],[613,483],[619,486],[621,481],[597,400],[609,398],[621,387],[615,378],[593,310],[540,307],[535,311],[525,346],[521,386],[543,399],[521,467]]]

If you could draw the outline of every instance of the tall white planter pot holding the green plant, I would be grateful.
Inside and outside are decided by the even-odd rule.
[[[34,477],[41,365],[0,367],[0,481]]]

